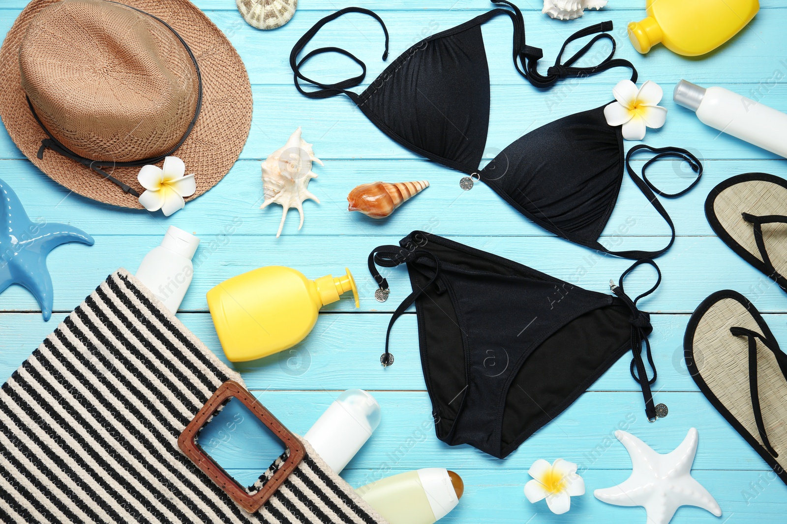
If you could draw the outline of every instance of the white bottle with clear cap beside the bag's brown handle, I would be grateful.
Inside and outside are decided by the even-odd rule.
[[[346,390],[317,419],[304,438],[338,474],[379,424],[380,405],[375,398],[364,390]]]

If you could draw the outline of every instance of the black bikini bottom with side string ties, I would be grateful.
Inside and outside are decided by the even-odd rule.
[[[423,376],[443,442],[503,458],[631,348],[632,376],[642,386],[648,419],[656,420],[650,392],[656,372],[648,380],[641,357],[644,340],[653,367],[647,343],[652,327],[648,313],[623,292],[626,274],[640,263],[656,267],[651,260],[623,273],[620,285],[612,286],[614,297],[415,231],[400,246],[377,247],[369,255],[380,296],[388,284],[375,264],[403,262],[413,292],[393,313],[380,361],[393,364],[390,328],[415,302]]]

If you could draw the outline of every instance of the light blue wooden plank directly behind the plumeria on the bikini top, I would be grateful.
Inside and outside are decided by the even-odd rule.
[[[785,67],[787,72],[787,67]],[[611,73],[605,73],[611,74]],[[770,74],[770,70],[769,70]],[[650,75],[648,75],[650,77]],[[648,77],[645,77],[647,79]],[[660,77],[655,77],[659,78]],[[527,82],[493,86],[490,133],[485,160],[493,159],[506,146],[553,120],[582,112],[611,101],[611,87],[620,76],[601,83],[566,83],[549,94],[536,91]],[[673,81],[674,80],[674,81]],[[662,102],[669,111],[660,130],[648,130],[645,143],[654,147],[676,145],[696,151],[703,159],[778,159],[773,153],[705,126],[693,112],[671,100],[677,79],[662,80],[666,96]],[[707,84],[712,85],[712,84]],[[787,85],[783,82],[760,97],[759,86],[719,84],[741,94],[758,97],[763,104],[787,110]],[[242,159],[264,159],[281,147],[297,126],[303,126],[306,140],[315,144],[316,155],[330,159],[421,159],[378,130],[346,97],[311,100],[297,93],[292,85],[254,85],[254,116]],[[273,117],[272,115],[275,115]],[[319,118],[317,117],[319,115]],[[636,142],[626,143],[630,148]],[[48,152],[46,154],[54,154]],[[23,158],[5,130],[0,132],[0,158]],[[484,162],[486,164],[486,162]],[[450,170],[458,179],[460,173]],[[92,176],[92,175],[91,175]]]

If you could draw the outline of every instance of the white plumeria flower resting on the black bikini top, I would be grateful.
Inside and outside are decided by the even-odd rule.
[[[631,80],[621,80],[612,93],[615,101],[604,108],[604,116],[610,126],[623,126],[626,140],[642,140],[645,127],[664,125],[667,109],[659,105],[664,92],[656,82],[648,80],[637,90]]]

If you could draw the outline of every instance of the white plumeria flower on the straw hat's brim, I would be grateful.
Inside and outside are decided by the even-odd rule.
[[[143,166],[137,180],[146,189],[139,196],[139,203],[148,211],[161,211],[164,216],[183,209],[185,196],[194,195],[197,182],[194,174],[186,174],[186,164],[177,156],[164,159],[164,167]]]

